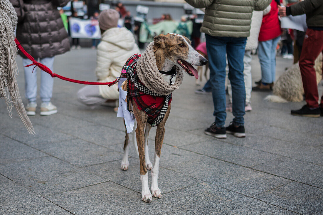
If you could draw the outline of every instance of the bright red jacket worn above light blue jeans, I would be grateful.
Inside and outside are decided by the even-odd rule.
[[[270,12],[263,17],[259,32],[259,41],[267,41],[281,35],[280,23],[278,20],[278,6],[275,0],[271,3]]]

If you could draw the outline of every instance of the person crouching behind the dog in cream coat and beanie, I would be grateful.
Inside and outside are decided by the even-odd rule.
[[[97,49],[96,76],[99,82],[110,82],[120,76],[124,63],[132,55],[140,52],[131,31],[118,28],[120,15],[116,10],[108,9],[100,13],[99,27],[101,42]],[[78,93],[78,101],[94,108],[107,101],[119,99],[118,85],[87,85]]]

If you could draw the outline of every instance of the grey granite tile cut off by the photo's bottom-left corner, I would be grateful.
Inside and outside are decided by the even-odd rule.
[[[0,196],[0,214],[16,215],[16,214],[48,214],[48,215],[68,215],[71,214],[67,210],[53,204],[35,193],[22,193],[19,196],[10,198],[2,198]]]

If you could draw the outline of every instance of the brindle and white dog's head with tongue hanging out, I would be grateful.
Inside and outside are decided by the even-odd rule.
[[[188,75],[195,76],[196,79],[199,75],[192,65],[203,66],[207,63],[207,59],[192,47],[191,41],[179,34],[170,33],[156,36],[154,38],[154,52],[157,64],[166,64],[169,67],[178,66]]]

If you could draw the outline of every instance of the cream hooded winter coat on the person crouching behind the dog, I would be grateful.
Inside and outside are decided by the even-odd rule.
[[[127,59],[140,53],[131,31],[127,28],[113,27],[102,34],[98,45],[97,67],[95,73],[99,82],[114,81],[121,74]],[[99,85],[100,95],[105,99],[119,99],[118,84],[111,87]]]

